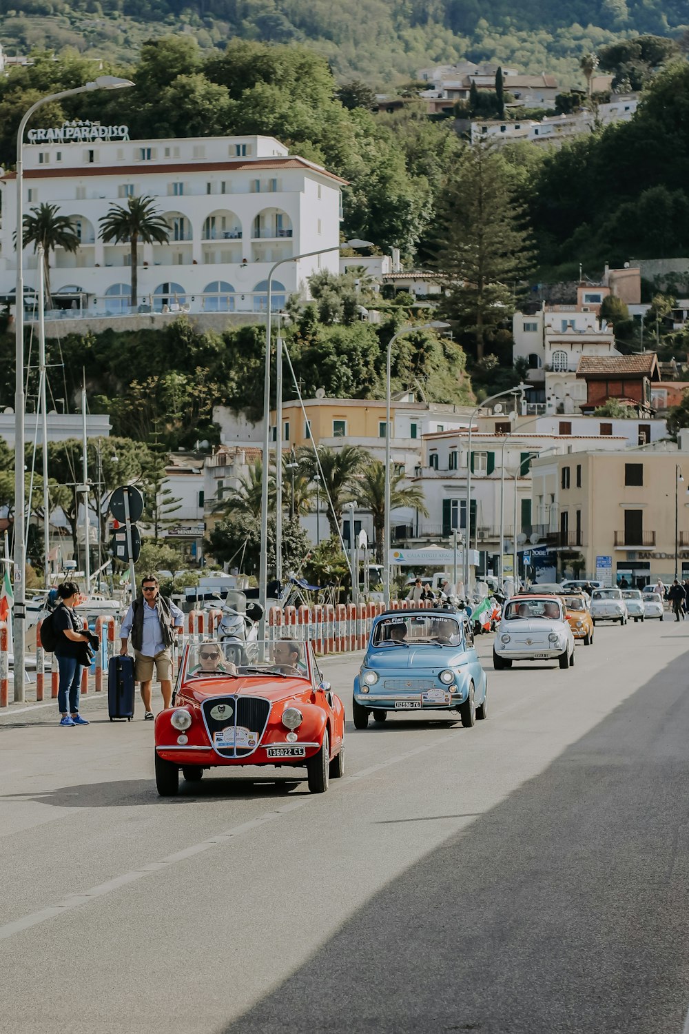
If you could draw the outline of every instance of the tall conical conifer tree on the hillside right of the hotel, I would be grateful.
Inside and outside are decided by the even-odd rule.
[[[476,359],[486,336],[514,310],[515,288],[532,266],[526,209],[490,143],[467,148],[445,190],[435,266],[448,295],[442,313],[473,335]]]

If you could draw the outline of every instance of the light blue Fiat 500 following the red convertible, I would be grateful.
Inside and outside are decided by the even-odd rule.
[[[462,725],[488,717],[488,680],[464,613],[388,610],[373,624],[354,678],[354,727],[390,711],[459,711]]]

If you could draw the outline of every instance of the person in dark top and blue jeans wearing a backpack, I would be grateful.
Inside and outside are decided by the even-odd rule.
[[[82,661],[91,641],[91,633],[84,626],[74,610],[79,603],[80,588],[76,582],[62,582],[58,585],[57,606],[53,612],[53,628],[56,633],[55,656],[58,659],[60,682],[58,707],[62,718],[60,725],[88,725],[79,712],[82,692]]]

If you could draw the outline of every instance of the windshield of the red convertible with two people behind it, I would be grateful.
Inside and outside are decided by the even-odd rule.
[[[187,653],[187,678],[236,678],[252,675],[309,677],[304,643],[294,639],[275,642],[192,643]]]

